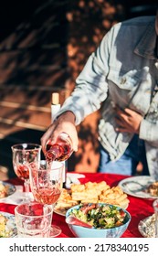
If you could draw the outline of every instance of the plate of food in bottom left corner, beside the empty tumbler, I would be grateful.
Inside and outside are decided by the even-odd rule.
[[[4,216],[6,221],[5,230],[2,233],[0,231],[0,237],[3,238],[15,238],[17,235],[15,215],[0,211],[0,215]]]

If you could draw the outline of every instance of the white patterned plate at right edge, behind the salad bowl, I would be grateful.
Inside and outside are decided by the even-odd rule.
[[[145,189],[153,183],[151,176],[132,176],[122,179],[118,186],[128,195],[145,199],[156,199],[158,196],[152,196],[145,192]]]

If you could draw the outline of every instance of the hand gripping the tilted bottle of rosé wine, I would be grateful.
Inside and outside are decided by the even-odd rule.
[[[67,133],[71,138],[73,151],[78,151],[79,138],[75,125],[75,115],[73,112],[63,112],[55,122],[51,123],[40,139],[44,153],[47,140],[51,138],[52,143],[55,143],[59,133],[62,132]]]

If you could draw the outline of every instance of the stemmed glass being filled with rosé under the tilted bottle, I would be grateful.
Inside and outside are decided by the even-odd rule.
[[[63,168],[64,164],[58,161],[53,161],[47,168],[30,168],[30,187],[38,203],[52,205],[54,208],[62,190]],[[50,237],[57,237],[60,233],[61,229],[52,225]]]

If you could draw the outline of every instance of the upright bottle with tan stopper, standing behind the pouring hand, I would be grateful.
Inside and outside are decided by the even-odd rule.
[[[60,110],[60,103],[59,103],[59,93],[58,92],[53,92],[52,93],[52,101],[51,101],[51,122],[53,123],[54,120],[57,117],[58,111]],[[50,146],[51,146],[51,142]],[[47,148],[49,147],[49,144],[47,144]],[[57,158],[55,160],[58,160]],[[53,161],[53,160],[52,160]],[[58,160],[61,161],[61,160]],[[66,187],[66,180],[67,180],[67,163],[63,160],[64,163],[64,169],[63,169],[63,187]]]

